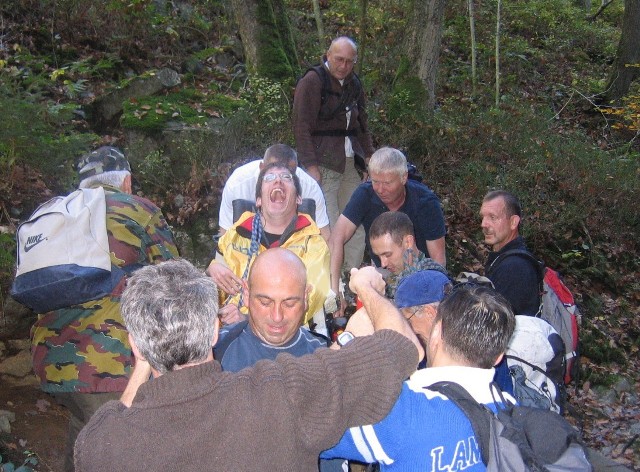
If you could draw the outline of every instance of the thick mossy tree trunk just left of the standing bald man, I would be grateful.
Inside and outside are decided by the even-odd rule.
[[[277,81],[298,75],[291,25],[282,0],[231,0],[247,70]]]

